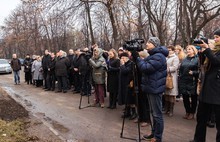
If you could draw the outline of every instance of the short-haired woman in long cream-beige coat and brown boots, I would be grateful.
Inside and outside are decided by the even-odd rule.
[[[173,108],[175,98],[178,95],[178,73],[177,70],[179,68],[179,58],[175,54],[175,47],[168,46],[169,55],[167,57],[167,72],[172,75],[173,88],[166,88],[165,91],[165,113],[170,117],[173,116]]]

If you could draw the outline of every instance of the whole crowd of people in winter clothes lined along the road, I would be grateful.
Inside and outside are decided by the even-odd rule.
[[[220,30],[214,32],[214,41],[202,41],[185,48],[165,47],[157,37],[150,37],[140,52],[123,48],[104,51],[96,44],[91,49],[70,49],[68,54],[62,50],[57,53],[45,50],[43,56],[26,56],[25,82],[57,93],[73,89],[74,93],[90,96],[94,92],[92,106],[101,108],[109,96],[107,108],[125,105],[122,118],[139,121],[143,127],[152,124],[152,132],[143,136],[151,142],[162,141],[163,115],[172,117],[175,102],[182,97],[183,118],[192,120],[197,112],[198,123],[192,142],[205,142],[209,120],[215,121],[216,141],[220,141]],[[16,54],[11,66],[14,82],[20,84],[21,63]],[[171,89],[166,88],[168,73],[173,79]]]

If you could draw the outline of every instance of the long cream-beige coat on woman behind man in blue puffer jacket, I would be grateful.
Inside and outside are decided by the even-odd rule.
[[[167,57],[167,72],[171,72],[173,76],[173,89],[166,89],[165,94],[171,96],[178,95],[178,68],[179,58],[174,54]]]

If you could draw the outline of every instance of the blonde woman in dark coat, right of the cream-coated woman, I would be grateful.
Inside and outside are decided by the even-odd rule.
[[[197,108],[198,55],[194,45],[186,47],[187,57],[179,69],[179,91],[183,95],[186,114],[184,119],[194,119]],[[191,100],[191,101],[190,101]]]

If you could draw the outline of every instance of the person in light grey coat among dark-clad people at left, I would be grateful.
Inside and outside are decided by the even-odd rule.
[[[33,80],[36,82],[36,86],[37,87],[42,86],[43,85],[43,69],[42,69],[40,56],[37,56],[37,60],[33,62],[31,71],[34,73]]]

